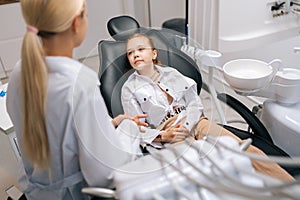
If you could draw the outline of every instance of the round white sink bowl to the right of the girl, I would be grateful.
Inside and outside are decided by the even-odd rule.
[[[259,60],[237,59],[224,64],[224,78],[239,91],[254,91],[266,87],[272,80],[273,68]]]

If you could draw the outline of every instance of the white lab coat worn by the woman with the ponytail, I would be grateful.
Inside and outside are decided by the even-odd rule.
[[[112,186],[113,170],[138,155],[139,141],[132,137],[138,134],[138,128],[132,121],[125,120],[120,125],[121,131],[116,132],[94,71],[67,57],[46,57],[46,62],[49,70],[46,105],[51,154],[49,172],[32,166],[22,152],[20,62],[8,84],[7,110],[24,166],[20,184],[30,200],[83,199],[81,188],[86,183]],[[131,135],[124,134],[128,130]]]

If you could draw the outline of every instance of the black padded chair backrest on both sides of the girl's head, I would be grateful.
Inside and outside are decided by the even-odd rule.
[[[159,30],[148,29],[144,34],[152,38],[161,63],[194,79],[200,93],[202,77],[195,61],[170,44]],[[98,44],[100,90],[112,117],[123,113],[121,89],[128,76],[134,71],[126,57],[125,45],[126,41],[111,40],[102,40]]]

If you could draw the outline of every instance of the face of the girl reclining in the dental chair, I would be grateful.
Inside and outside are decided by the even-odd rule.
[[[157,57],[157,51],[151,47],[148,38],[142,36],[128,40],[126,53],[130,65],[137,71],[153,66]]]

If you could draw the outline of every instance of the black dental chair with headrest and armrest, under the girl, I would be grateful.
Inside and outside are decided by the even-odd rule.
[[[120,20],[120,18],[122,20]],[[132,22],[132,20],[134,21]],[[194,79],[197,83],[198,94],[200,94],[201,88],[206,88],[205,83],[202,82],[201,73],[197,63],[178,48],[179,40],[177,36],[174,36],[174,34],[177,35],[176,32],[147,28],[140,29],[140,26],[137,24],[135,25],[136,28],[132,28],[129,32],[122,29],[122,32],[118,33],[119,29],[116,27],[121,25],[125,26],[124,24],[127,23],[136,24],[137,21],[129,16],[111,18],[107,27],[109,33],[112,34],[111,36],[115,40],[102,40],[98,44],[100,59],[98,76],[101,82],[100,90],[107,105],[108,112],[112,117],[123,113],[121,88],[128,76],[134,71],[129,64],[125,53],[126,39],[133,33],[141,32],[149,35],[153,39],[154,45],[158,50],[158,60],[160,60],[162,64],[174,67],[182,74]],[[117,40],[117,38],[120,39],[120,36],[117,36],[118,34],[122,36],[121,40]],[[247,122],[252,132],[240,130],[228,125],[222,125],[224,128],[241,139],[251,138],[252,144],[260,148],[267,155],[289,157],[285,151],[273,143],[267,129],[245,105],[225,93],[218,94],[218,98],[238,112]],[[282,167],[292,175],[300,174],[300,168],[298,167]]]

